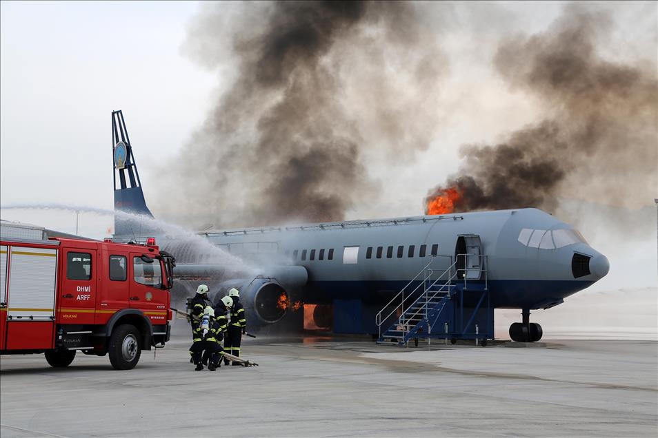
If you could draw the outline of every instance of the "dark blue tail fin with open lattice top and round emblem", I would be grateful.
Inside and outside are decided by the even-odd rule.
[[[121,110],[112,112],[112,162],[114,165],[114,210],[152,218],[141,190],[137,163]],[[114,235],[131,236],[143,230],[136,221],[114,216]]]

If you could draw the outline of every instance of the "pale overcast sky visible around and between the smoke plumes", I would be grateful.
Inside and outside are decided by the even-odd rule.
[[[223,4],[227,14],[237,7]],[[399,169],[397,178],[380,181],[390,199],[357,208],[350,212],[352,218],[422,213],[427,190],[459,166],[459,145],[490,141],[534,120],[534,103],[504,87],[490,63],[481,60],[492,56],[501,30],[539,32],[562,7],[555,2],[454,4],[450,17],[443,19],[456,24],[440,36],[450,58],[444,128],[427,152]],[[610,35],[610,59],[641,57],[655,64],[655,2],[601,3],[601,8],[614,10],[617,23]],[[2,1],[1,204],[112,209],[110,112],[120,109],[147,203],[157,216],[166,217],[167,167],[175,165],[177,152],[189,144],[217,96],[230,85],[222,80],[232,68],[228,54],[216,68],[203,67],[188,55],[186,30],[198,11],[199,4],[191,1]],[[644,205],[651,206],[651,201]],[[634,284],[655,287],[655,210],[641,214],[646,216],[640,221],[646,235],[640,246],[619,250],[635,258],[615,260],[608,253],[610,278],[615,280],[599,290],[619,286],[638,264]],[[2,218],[74,231],[70,212],[3,209]],[[87,213],[80,225],[81,233],[101,237],[112,218]],[[587,229],[582,231],[597,249],[619,248],[618,236],[598,233],[592,239]]]

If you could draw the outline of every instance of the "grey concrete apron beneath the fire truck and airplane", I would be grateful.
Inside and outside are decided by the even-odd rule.
[[[283,342],[285,341],[285,342]],[[187,340],[131,371],[78,353],[0,357],[7,437],[646,437],[658,343],[397,348],[355,338],[243,341],[259,364],[195,372]]]

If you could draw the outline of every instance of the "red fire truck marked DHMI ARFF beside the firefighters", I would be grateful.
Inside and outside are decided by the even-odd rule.
[[[46,353],[54,367],[70,365],[76,351],[108,354],[128,370],[142,350],[169,340],[175,260],[154,239],[48,238],[7,222],[1,231],[0,354]]]

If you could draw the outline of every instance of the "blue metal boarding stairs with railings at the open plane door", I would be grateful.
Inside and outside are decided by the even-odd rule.
[[[458,263],[458,261],[463,263]],[[448,267],[446,267],[448,264]],[[406,346],[419,339],[493,339],[493,309],[487,282],[487,256],[473,253],[430,256],[421,271],[375,317],[378,343]]]

